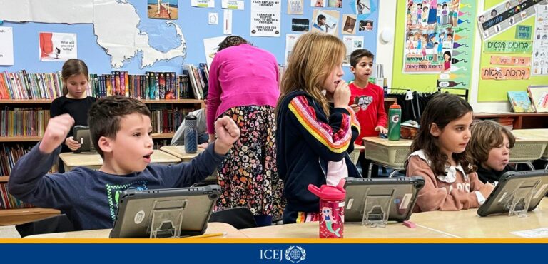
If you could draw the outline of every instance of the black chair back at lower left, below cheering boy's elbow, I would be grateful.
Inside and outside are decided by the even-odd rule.
[[[68,220],[68,217],[64,214],[51,216],[49,218],[44,218],[21,225],[15,225],[15,229],[19,232],[21,238],[29,235],[76,231],[71,223],[71,220]]]

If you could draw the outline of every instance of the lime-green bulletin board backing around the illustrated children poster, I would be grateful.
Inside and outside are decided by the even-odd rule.
[[[407,12],[407,3],[408,1],[397,1],[392,88],[405,88],[426,92],[435,91],[440,73],[409,74],[404,72],[407,19],[409,15]],[[452,28],[452,34],[458,35],[455,38],[455,49],[452,52],[457,54],[453,58],[459,62],[451,66],[452,71],[456,71],[446,76],[451,76],[450,81],[460,83],[455,88],[467,89],[471,87],[476,3],[472,0],[437,1],[437,4],[453,3],[458,3],[457,5],[459,6],[459,23]]]

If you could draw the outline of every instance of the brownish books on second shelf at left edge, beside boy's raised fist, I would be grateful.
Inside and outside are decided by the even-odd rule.
[[[0,136],[42,136],[49,121],[49,110],[13,108],[0,110]]]

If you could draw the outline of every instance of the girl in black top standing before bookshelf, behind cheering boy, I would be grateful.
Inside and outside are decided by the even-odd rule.
[[[80,59],[65,61],[61,69],[63,96],[51,102],[49,115],[53,118],[68,113],[74,118],[74,126],[87,126],[88,110],[96,101],[95,97],[88,96],[86,93],[88,81],[88,66],[85,62]],[[68,131],[67,138],[61,147],[61,153],[76,151],[80,148],[80,143],[73,138],[73,127]],[[58,171],[65,172],[61,159],[59,159]]]

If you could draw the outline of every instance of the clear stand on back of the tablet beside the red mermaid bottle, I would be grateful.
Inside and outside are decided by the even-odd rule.
[[[370,225],[372,228],[384,228],[388,223],[390,216],[390,201],[392,200],[392,191],[382,194],[372,194],[371,189],[365,193],[365,203],[363,203],[362,225]]]

